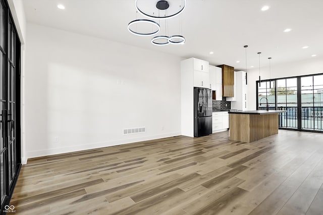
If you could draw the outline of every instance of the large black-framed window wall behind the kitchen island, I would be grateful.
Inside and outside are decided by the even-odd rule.
[[[323,132],[323,75],[257,81],[257,108],[286,110],[279,116],[279,127]],[[264,99],[264,98],[266,99]]]

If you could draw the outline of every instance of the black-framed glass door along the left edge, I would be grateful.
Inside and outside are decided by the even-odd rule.
[[[0,0],[1,4],[3,5],[3,22],[4,22],[4,60],[3,60],[3,83],[1,83],[3,86],[3,95],[5,95],[4,100],[6,100],[5,102],[5,112],[8,112],[7,110],[9,110],[9,96],[8,96],[8,74],[9,74],[9,60],[10,60],[10,53],[9,53],[9,44],[10,44],[10,33],[9,31],[13,30],[14,32],[14,54],[15,54],[15,63],[14,63],[14,67],[15,67],[15,78],[14,78],[14,82],[15,82],[15,87],[14,87],[14,91],[15,91],[15,122],[11,122],[11,123],[15,123],[14,126],[14,133],[15,133],[15,175],[12,179],[11,184],[9,184],[9,149],[8,149],[8,143],[9,143],[9,126],[8,126],[8,114],[3,115],[2,120],[4,121],[3,123],[3,129],[5,130],[5,135],[4,135],[4,149],[7,147],[7,149],[4,151],[4,165],[5,165],[5,198],[3,203],[0,202],[1,204],[1,210],[0,210],[0,214],[5,213],[5,206],[10,204],[10,200],[12,197],[12,194],[14,192],[14,188],[16,186],[17,180],[18,180],[18,176],[20,173],[20,169],[21,169],[21,42],[20,42],[20,38],[18,35],[18,31],[17,28],[15,26],[15,22],[12,18],[12,14],[9,8],[9,4],[7,2],[7,0]],[[11,23],[11,29],[9,29],[9,23]]]

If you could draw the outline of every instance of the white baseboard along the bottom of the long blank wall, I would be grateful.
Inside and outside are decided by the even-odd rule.
[[[27,152],[27,155],[28,155],[28,158],[37,158],[37,157],[43,157],[43,156],[48,156],[48,155],[58,155],[58,154],[77,152],[77,151],[83,151],[83,150],[98,149],[98,148],[103,148],[103,147],[112,147],[112,146],[117,146],[117,145],[130,144],[132,142],[166,138],[166,137],[178,136],[178,135],[181,135],[180,131],[174,132],[174,133],[158,134],[158,135],[153,135],[153,136],[143,136],[143,137],[137,137],[137,138],[132,138],[132,139],[93,142],[90,144],[78,145],[78,146],[69,146],[69,147],[45,149],[45,150],[38,150],[38,151],[29,151],[29,152]],[[24,158],[26,163],[27,163],[28,158]]]

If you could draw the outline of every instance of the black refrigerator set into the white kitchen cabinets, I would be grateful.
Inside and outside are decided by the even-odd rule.
[[[212,90],[194,87],[194,136],[212,133]]]

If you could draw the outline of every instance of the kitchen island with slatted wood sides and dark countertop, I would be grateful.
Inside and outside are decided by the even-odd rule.
[[[252,142],[278,133],[278,114],[284,110],[229,111],[230,140]]]

